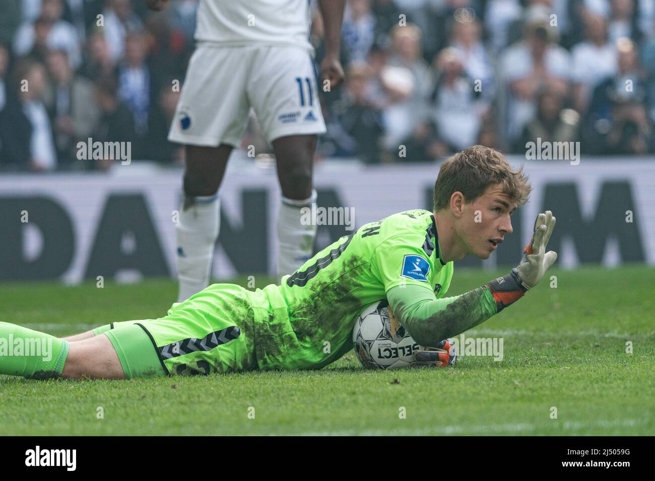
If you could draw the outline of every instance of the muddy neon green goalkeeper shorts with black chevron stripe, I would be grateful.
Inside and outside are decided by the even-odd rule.
[[[95,329],[116,349],[126,379],[257,368],[253,308],[246,289],[209,289],[174,304],[168,315]]]

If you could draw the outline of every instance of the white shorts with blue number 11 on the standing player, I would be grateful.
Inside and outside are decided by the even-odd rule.
[[[206,147],[238,147],[250,107],[266,139],[324,134],[309,52],[294,46],[196,47],[168,140]]]

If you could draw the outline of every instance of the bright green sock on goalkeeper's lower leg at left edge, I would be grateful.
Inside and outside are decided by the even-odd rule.
[[[68,356],[68,341],[45,332],[0,322],[0,374],[58,378]]]

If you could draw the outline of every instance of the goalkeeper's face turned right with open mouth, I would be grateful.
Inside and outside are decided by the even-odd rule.
[[[498,249],[505,235],[512,234],[510,215],[516,205],[500,184],[487,187],[476,200],[464,204],[458,234],[469,254],[486,259]]]

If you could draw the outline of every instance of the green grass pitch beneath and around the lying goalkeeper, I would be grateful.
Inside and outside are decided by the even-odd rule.
[[[505,272],[456,268],[449,294],[498,274]],[[257,287],[270,280],[255,279]],[[176,290],[168,279],[103,289],[3,283],[0,320],[65,336],[164,315]],[[0,376],[0,432],[655,434],[655,269],[549,271],[525,298],[466,336],[502,337],[504,359],[468,356],[451,368],[367,371],[351,351],[319,371],[81,382]]]

